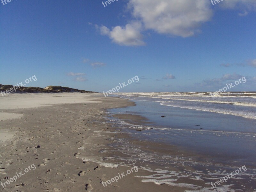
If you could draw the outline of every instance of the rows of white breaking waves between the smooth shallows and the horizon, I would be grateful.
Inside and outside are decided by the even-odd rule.
[[[116,93],[131,100],[160,102],[160,105],[208,111],[256,119],[256,92]]]

